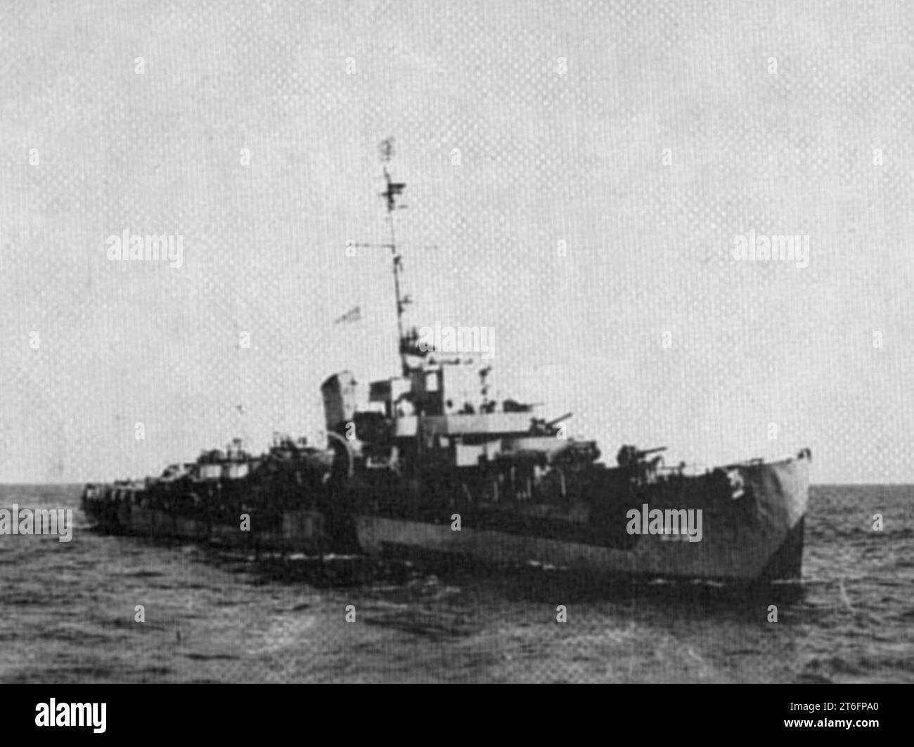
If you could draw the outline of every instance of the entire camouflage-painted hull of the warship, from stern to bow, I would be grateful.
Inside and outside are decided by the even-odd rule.
[[[224,511],[197,510],[191,515],[154,508],[142,491],[84,498],[83,508],[102,531],[260,552],[431,553],[496,566],[532,562],[582,575],[765,582],[801,577],[808,464],[808,456],[801,455],[739,466],[740,495],[745,494],[739,500],[712,495],[701,479],[679,489],[679,503],[671,502],[670,490],[662,494],[660,489],[644,489],[631,496],[627,505],[632,507],[646,508],[659,501],[667,508],[702,510],[697,542],[683,534],[626,534],[626,506],[617,507],[607,521],[606,515],[600,518],[594,512],[593,496],[590,507],[572,501],[565,515],[553,513],[546,518],[542,510],[546,504],[531,503],[523,509],[500,505],[495,511],[478,504],[441,506],[432,511],[437,516],[431,519],[433,500],[420,500],[421,510],[408,508],[405,514],[400,501],[400,515],[393,516],[389,506],[380,512],[367,509],[377,506],[372,493],[388,499],[393,495],[390,483],[369,489],[368,500],[365,494],[361,500],[346,500],[345,521],[328,517],[317,503],[268,513],[243,507],[232,510],[233,517],[240,516],[241,510],[250,512],[250,531],[243,531],[239,521],[229,522]],[[461,518],[459,531],[452,521],[455,514]]]

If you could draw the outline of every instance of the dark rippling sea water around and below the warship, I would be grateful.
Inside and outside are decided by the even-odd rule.
[[[813,487],[802,583],[750,595],[254,559],[96,534],[79,495],[0,486],[76,522],[0,535],[0,681],[914,682],[914,487]]]

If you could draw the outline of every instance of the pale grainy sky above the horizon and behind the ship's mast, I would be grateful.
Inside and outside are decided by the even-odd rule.
[[[493,327],[496,393],[608,455],[909,479],[912,14],[6,4],[0,479],[311,434],[326,375],[392,373],[388,256],[345,253],[387,240],[390,135],[410,321]],[[108,261],[123,231],[180,235],[182,266]],[[749,231],[808,236],[809,267],[735,260]]]

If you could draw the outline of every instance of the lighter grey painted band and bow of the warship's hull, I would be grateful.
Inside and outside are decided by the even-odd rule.
[[[698,542],[683,535],[643,534],[632,538],[631,548],[611,547],[599,540],[563,539],[560,521],[549,532],[552,536],[544,537],[516,528],[500,530],[492,521],[473,522],[472,513],[462,514],[462,527],[455,531],[450,517],[436,523],[359,512],[356,532],[360,546],[370,553],[432,552],[500,566],[532,562],[588,575],[724,582],[799,578],[808,458],[754,465],[741,474],[751,491],[751,510],[706,510]],[[650,500],[649,492],[644,495]],[[703,502],[707,507],[707,501],[696,505]],[[476,525],[467,526],[464,517]],[[579,535],[572,529],[568,527],[569,536]]]

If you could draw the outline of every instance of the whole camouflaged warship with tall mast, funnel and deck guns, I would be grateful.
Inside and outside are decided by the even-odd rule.
[[[740,583],[800,578],[809,449],[687,474],[685,465],[664,466],[665,447],[623,445],[607,465],[595,441],[569,437],[570,413],[547,419],[542,405],[491,397],[485,356],[454,354],[430,344],[427,331],[405,329],[394,213],[406,184],[389,173],[391,153],[384,142],[390,241],[377,246],[390,251],[399,373],[367,387],[348,370],[327,377],[323,447],[277,438],[252,458],[236,442],[156,479],[87,485],[90,521],[279,552]],[[462,331],[478,342],[477,329]],[[466,395],[468,377],[478,394]]]

